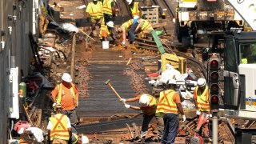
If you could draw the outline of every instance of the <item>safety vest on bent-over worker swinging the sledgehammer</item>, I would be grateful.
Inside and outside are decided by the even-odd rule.
[[[146,96],[150,99],[149,106],[141,106],[141,110],[143,114],[154,115],[158,106],[158,100],[150,94],[146,94]]]

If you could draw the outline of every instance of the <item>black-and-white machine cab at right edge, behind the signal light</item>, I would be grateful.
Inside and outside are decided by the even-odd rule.
[[[224,34],[224,111],[256,119],[256,32]]]

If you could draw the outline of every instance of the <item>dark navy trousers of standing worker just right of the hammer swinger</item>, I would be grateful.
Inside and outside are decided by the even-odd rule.
[[[178,114],[167,113],[163,117],[165,125],[164,134],[162,136],[162,144],[172,144],[178,133]]]

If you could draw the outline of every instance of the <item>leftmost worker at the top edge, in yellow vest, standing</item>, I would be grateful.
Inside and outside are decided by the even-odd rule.
[[[100,26],[103,19],[103,13],[102,13],[102,2],[98,0],[93,0],[93,2],[90,2],[86,8],[86,17],[88,17],[88,14],[90,15],[90,22],[91,22],[91,36],[92,34],[95,34],[96,25]]]

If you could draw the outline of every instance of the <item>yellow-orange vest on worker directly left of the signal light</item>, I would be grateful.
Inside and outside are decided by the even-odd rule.
[[[206,86],[205,90],[201,92],[198,90],[198,86],[195,87],[195,92],[197,94],[197,104],[199,111],[210,111],[210,102],[209,102],[209,88]]]

